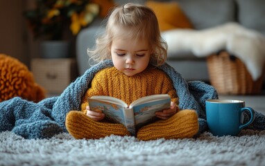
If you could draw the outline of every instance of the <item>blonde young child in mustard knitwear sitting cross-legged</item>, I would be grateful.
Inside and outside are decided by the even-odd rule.
[[[156,68],[164,64],[166,48],[157,18],[150,8],[132,3],[115,8],[108,18],[105,34],[96,40],[95,49],[88,51],[94,61],[112,59],[114,66],[96,73],[83,96],[82,111],[67,114],[67,131],[77,139],[130,135],[122,124],[105,120],[104,113],[89,110],[87,98],[110,95],[130,104],[146,95],[167,93],[171,96],[171,107],[157,111],[157,118],[161,120],[139,129],[137,138],[193,137],[198,132],[196,111],[178,109],[178,96],[172,80]]]

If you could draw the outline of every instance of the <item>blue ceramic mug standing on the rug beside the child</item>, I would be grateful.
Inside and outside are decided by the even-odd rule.
[[[241,129],[255,119],[255,111],[241,100],[206,100],[206,118],[214,136],[237,136]],[[243,124],[243,111],[250,112],[250,120]]]

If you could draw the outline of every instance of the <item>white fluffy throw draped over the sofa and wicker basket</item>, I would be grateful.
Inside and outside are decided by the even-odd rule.
[[[174,29],[162,33],[169,54],[193,53],[205,57],[227,50],[246,65],[253,80],[262,75],[265,62],[265,37],[237,23],[228,23],[205,30]]]

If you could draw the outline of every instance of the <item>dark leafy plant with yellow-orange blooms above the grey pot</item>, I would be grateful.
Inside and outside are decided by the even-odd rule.
[[[69,24],[73,35],[77,35],[99,15],[99,4],[89,0],[40,0],[36,4],[36,9],[24,12],[35,37],[62,39],[62,29]]]

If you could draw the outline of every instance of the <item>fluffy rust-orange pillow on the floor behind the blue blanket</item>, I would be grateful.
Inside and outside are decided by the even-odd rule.
[[[0,102],[20,97],[40,102],[46,98],[46,91],[34,80],[28,67],[9,55],[0,54]]]

